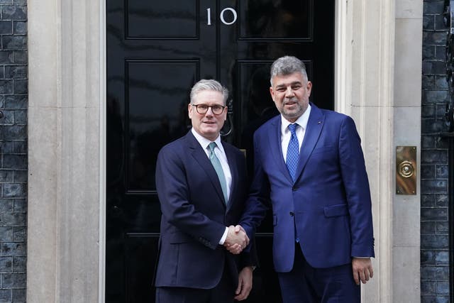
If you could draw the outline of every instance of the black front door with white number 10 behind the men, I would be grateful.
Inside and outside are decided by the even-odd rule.
[[[333,109],[334,1],[106,0],[106,302],[154,302],[160,205],[155,161],[190,128],[189,91],[214,78],[231,92],[224,140],[246,150],[277,114],[269,68],[277,57],[306,62],[311,101]],[[256,235],[260,268],[248,302],[280,302],[272,224]]]

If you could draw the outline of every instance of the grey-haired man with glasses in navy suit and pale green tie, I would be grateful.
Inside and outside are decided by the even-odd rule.
[[[157,156],[157,303],[231,303],[252,288],[255,253],[243,251],[249,238],[233,227],[247,195],[245,158],[220,137],[227,97],[219,82],[197,82],[188,104],[192,129]]]

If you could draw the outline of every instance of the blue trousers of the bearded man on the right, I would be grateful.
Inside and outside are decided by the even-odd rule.
[[[313,268],[299,243],[295,246],[293,269],[278,272],[284,303],[360,303],[360,286],[353,280],[352,265]]]

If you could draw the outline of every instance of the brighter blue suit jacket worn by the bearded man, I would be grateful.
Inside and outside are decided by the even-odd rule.
[[[280,137],[281,116],[255,132],[254,179],[240,223],[251,236],[271,200],[277,272],[292,270],[294,226],[314,268],[374,256],[369,182],[353,120],[311,104],[296,182],[285,165]]]

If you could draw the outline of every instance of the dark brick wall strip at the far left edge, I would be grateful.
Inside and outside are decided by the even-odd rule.
[[[0,302],[26,302],[26,4],[0,0]]]

